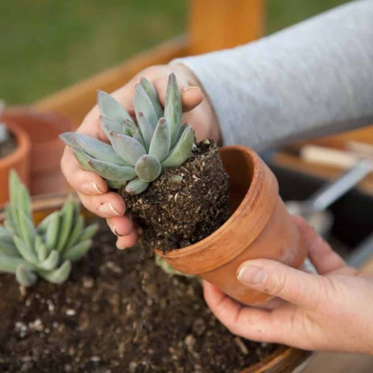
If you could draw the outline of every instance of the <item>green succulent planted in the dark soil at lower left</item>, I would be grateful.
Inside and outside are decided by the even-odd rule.
[[[23,286],[33,285],[37,276],[62,283],[69,277],[71,261],[89,250],[98,225],[84,229],[80,205],[69,195],[60,211],[35,227],[28,190],[14,170],[9,184],[10,203],[0,225],[0,272],[15,273]]]

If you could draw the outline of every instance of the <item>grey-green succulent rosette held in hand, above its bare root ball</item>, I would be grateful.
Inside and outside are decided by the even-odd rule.
[[[94,171],[113,188],[126,183],[130,194],[143,192],[163,168],[188,159],[194,131],[181,126],[182,106],[175,74],[169,76],[164,110],[153,85],[142,78],[135,86],[136,122],[111,95],[98,91],[100,124],[111,145],[87,135],[65,132],[69,145],[85,170]]]

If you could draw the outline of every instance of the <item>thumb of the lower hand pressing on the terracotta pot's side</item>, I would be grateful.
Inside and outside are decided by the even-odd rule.
[[[315,308],[333,291],[329,279],[269,259],[248,260],[237,270],[242,284],[305,308]]]

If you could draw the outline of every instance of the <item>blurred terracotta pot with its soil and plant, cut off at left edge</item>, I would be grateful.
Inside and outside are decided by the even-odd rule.
[[[4,109],[0,101],[0,117]],[[13,122],[0,121],[0,180],[8,180],[11,169],[17,170],[26,184],[29,176],[30,140],[22,128]],[[9,200],[8,185],[0,188],[0,206]]]

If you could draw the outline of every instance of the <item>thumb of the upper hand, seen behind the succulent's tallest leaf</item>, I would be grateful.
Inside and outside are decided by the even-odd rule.
[[[154,81],[154,88],[156,89],[159,100],[164,106],[166,101],[166,91],[167,91],[167,79],[158,79]],[[183,107],[183,112],[188,112],[199,105],[204,98],[201,88],[196,86],[184,85],[179,82],[179,89],[181,90],[181,103]]]

